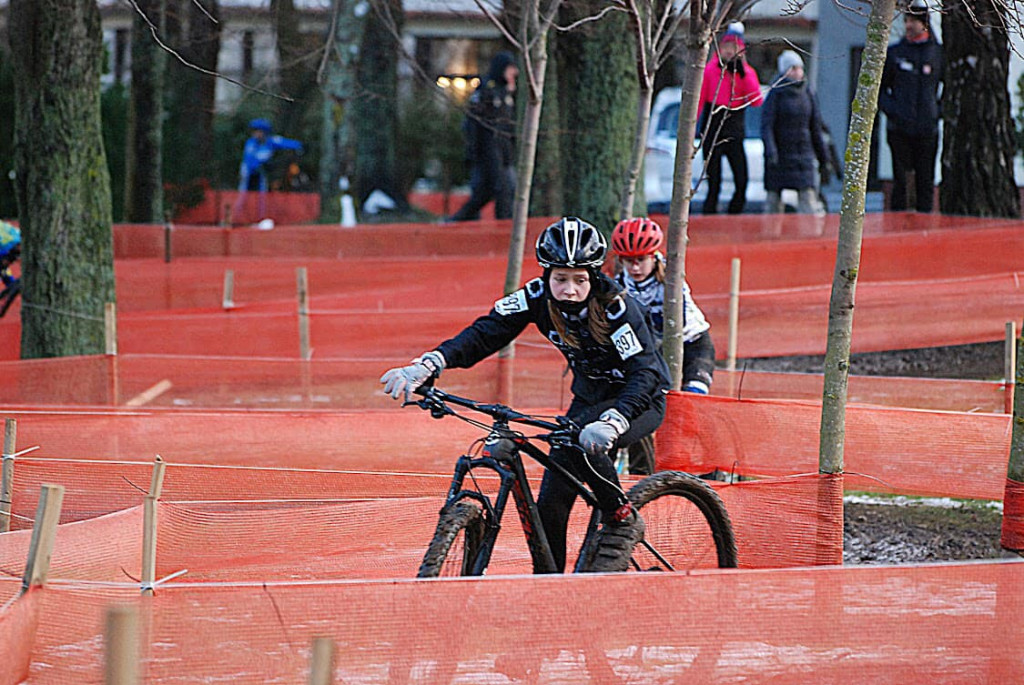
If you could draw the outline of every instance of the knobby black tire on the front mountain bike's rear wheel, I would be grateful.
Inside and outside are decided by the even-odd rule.
[[[654,508],[650,505],[657,501],[666,503],[666,498],[683,498],[689,501],[700,512],[708,524],[711,538],[714,540],[718,567],[736,567],[736,539],[732,531],[729,513],[714,488],[700,478],[682,471],[662,471],[647,476],[630,488],[629,498],[633,506],[640,511],[640,515],[644,517],[648,540],[652,541],[655,549],[658,544],[652,538],[656,536],[658,527],[671,527],[673,521],[659,521],[654,518],[652,515]],[[641,549],[643,546],[637,545],[634,549],[634,555]],[[667,550],[662,550],[662,552],[666,553]],[[677,570],[688,570],[688,568],[677,568]]]

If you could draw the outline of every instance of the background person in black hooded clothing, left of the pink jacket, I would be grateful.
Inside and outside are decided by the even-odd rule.
[[[486,76],[469,97],[463,131],[470,165],[470,196],[450,221],[475,221],[494,200],[495,218],[512,218],[515,195],[515,80],[511,52],[499,52]]]

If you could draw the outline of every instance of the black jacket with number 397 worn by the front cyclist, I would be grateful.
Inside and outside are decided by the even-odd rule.
[[[669,388],[669,368],[651,333],[647,310],[622,294],[604,274],[593,284],[603,292],[620,293],[607,308],[611,324],[609,344],[590,336],[586,319],[567,319],[580,347],[565,344],[551,322],[548,288],[542,279],[498,300],[494,308],[462,333],[437,346],[450,368],[468,369],[512,342],[528,324],[558,348],[572,370],[572,394],[587,404],[613,399],[614,406],[632,421]],[[590,306],[594,300],[590,300]],[[560,314],[558,314],[560,315]]]

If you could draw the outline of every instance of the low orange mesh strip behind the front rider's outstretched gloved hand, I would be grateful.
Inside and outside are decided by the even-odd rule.
[[[376,359],[259,359],[121,354],[0,361],[0,403],[177,409],[389,409],[378,382],[412,354]],[[471,370],[446,372],[451,392],[513,406],[565,408],[570,377],[547,343],[517,345],[514,359],[490,357]],[[715,395],[821,398],[820,374],[715,372]],[[849,400],[956,412],[1001,412],[1001,382],[851,376]]]

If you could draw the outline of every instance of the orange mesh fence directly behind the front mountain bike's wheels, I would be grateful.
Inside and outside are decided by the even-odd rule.
[[[152,468],[152,467],[151,467]],[[138,579],[140,483],[151,468],[120,462],[27,460],[15,469],[13,528],[0,537],[0,568],[26,558],[42,483],[66,487],[50,577]],[[539,470],[535,474],[535,491]],[[636,479],[628,479],[628,487]],[[413,577],[426,551],[450,476],[169,465],[160,507],[158,570],[189,579]],[[493,477],[474,483],[486,493]],[[716,483],[741,567],[842,561],[842,481],[835,477]],[[589,510],[574,508],[569,550],[579,550]],[[714,542],[692,505],[644,509],[648,534],[677,568],[716,565]],[[296,555],[296,541],[315,541]],[[574,558],[574,557],[573,557]],[[529,573],[529,554],[510,513],[489,573]]]

